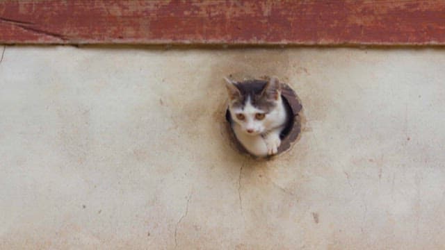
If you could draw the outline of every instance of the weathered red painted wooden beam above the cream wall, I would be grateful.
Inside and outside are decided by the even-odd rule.
[[[445,1],[1,0],[0,43],[445,44]]]

